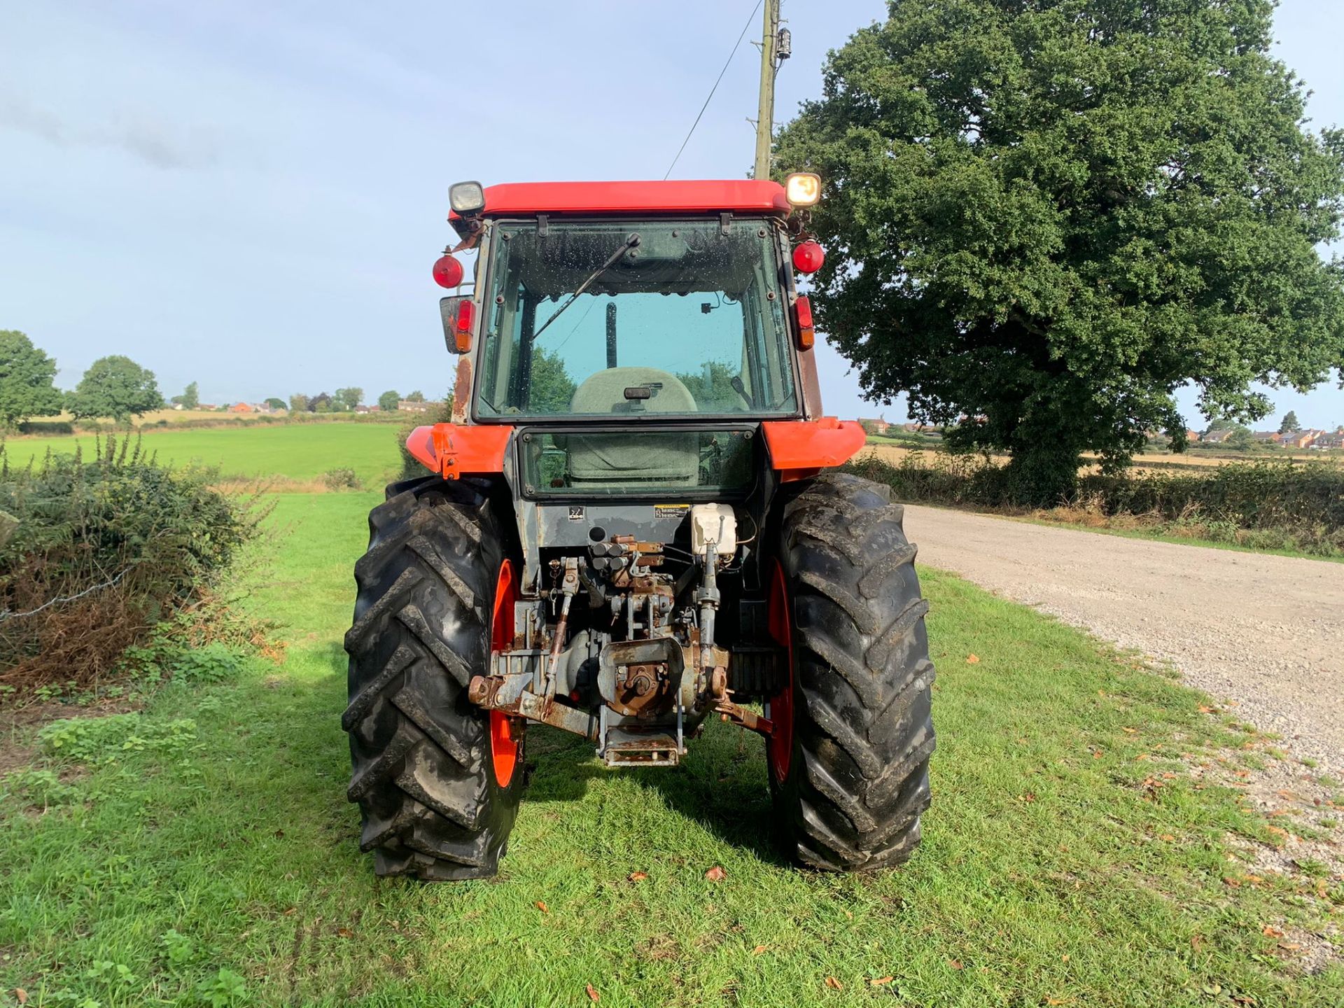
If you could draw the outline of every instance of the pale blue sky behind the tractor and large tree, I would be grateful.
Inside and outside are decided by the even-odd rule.
[[[442,394],[449,184],[663,177],[754,5],[0,0],[0,328],[62,387],[125,353],[204,402]],[[777,122],[884,9],[785,0]],[[1339,0],[1278,12],[1314,126],[1344,124],[1341,28]],[[750,171],[758,75],[743,42],[673,177]],[[820,358],[827,413],[903,419]],[[1271,398],[1344,423],[1333,380]]]

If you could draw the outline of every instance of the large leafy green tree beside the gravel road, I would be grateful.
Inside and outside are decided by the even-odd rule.
[[[777,146],[821,173],[818,321],[866,392],[1007,449],[1015,492],[1149,429],[1263,417],[1344,362],[1344,134],[1304,126],[1270,0],[892,3]]]

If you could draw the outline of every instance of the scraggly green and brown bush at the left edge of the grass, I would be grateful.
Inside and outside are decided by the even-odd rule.
[[[16,469],[0,452],[0,681],[109,672],[157,622],[208,591],[257,532],[253,501],[215,473],[169,469],[140,442]]]

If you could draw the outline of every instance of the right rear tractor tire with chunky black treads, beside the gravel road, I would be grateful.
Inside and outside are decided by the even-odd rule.
[[[902,516],[890,488],[847,473],[784,513],[770,609],[792,675],[770,703],[770,790],[785,848],[823,871],[900,864],[929,806],[929,603]]]

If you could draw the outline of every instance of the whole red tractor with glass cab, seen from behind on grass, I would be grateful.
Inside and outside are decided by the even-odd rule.
[[[370,515],[345,636],[378,874],[495,874],[534,722],[672,767],[719,715],[765,737],[798,862],[919,843],[927,603],[888,488],[831,472],[864,434],[821,413],[794,286],[820,188],[452,187],[453,251],[478,251],[441,302],[453,421],[407,439],[431,474]]]

